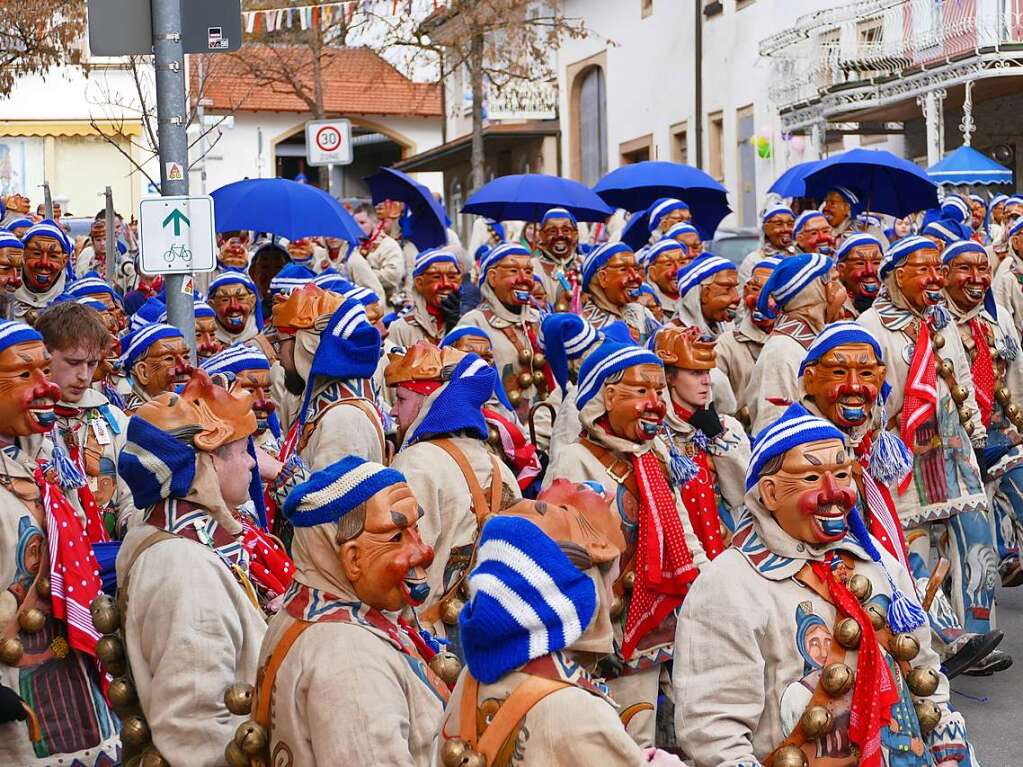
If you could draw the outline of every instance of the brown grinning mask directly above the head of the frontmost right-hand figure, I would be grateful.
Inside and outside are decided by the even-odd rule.
[[[844,344],[806,367],[803,388],[828,420],[849,430],[873,415],[886,372],[870,344]]]

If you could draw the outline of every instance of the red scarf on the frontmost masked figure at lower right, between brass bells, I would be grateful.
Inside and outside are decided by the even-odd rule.
[[[891,707],[898,701],[898,690],[892,682],[871,619],[852,592],[839,583],[832,572],[834,556],[834,552],[830,552],[827,562],[811,561],[810,568],[828,587],[838,612],[859,624],[861,632],[856,656],[856,683],[852,689],[849,738],[859,747],[860,767],[882,767],[881,727],[891,720]]]

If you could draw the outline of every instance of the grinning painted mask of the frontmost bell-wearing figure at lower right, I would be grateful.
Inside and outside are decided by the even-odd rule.
[[[764,507],[791,537],[813,546],[845,537],[856,503],[852,456],[839,440],[797,445],[757,483]]]

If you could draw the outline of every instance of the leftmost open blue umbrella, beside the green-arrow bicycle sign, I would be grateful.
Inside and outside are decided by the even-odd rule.
[[[251,229],[288,239],[365,235],[341,202],[322,189],[282,178],[235,181],[213,191],[218,232]]]

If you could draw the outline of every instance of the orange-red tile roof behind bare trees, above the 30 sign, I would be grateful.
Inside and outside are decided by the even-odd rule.
[[[324,108],[340,115],[441,116],[440,86],[413,83],[368,48],[324,48]],[[284,72],[310,95],[312,52],[305,46],[247,44],[236,53],[207,58],[207,108],[228,111],[311,111]],[[190,65],[191,92],[197,66]],[[269,73],[269,75],[267,74]]]

